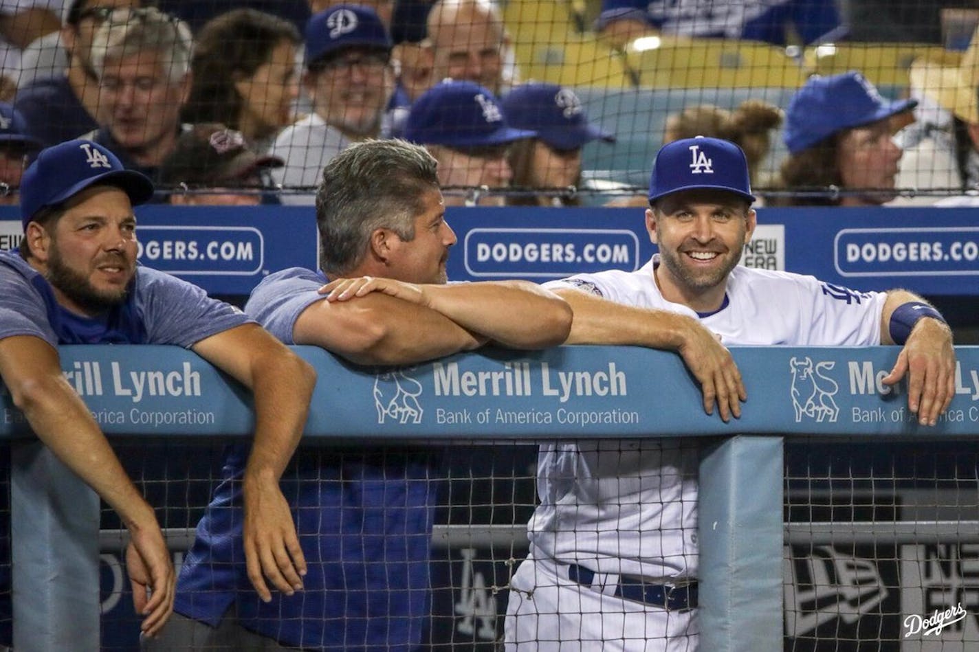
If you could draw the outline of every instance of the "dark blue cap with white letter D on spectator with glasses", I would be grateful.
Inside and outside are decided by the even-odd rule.
[[[305,26],[306,68],[341,48],[373,47],[391,51],[391,34],[373,9],[336,5],[316,14]]]

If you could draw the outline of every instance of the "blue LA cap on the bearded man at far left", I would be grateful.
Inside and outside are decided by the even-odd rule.
[[[125,169],[116,155],[90,140],[70,140],[37,155],[21,179],[23,227],[38,210],[56,206],[94,185],[115,186],[133,206],[153,197],[153,182],[140,172]]]

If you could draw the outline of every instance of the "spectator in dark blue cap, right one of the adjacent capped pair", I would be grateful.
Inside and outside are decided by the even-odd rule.
[[[527,189],[561,189],[560,195],[513,195],[509,206],[579,206],[582,187],[582,148],[615,136],[588,121],[582,101],[570,88],[549,83],[517,86],[501,100],[510,125],[536,132],[514,143],[509,153],[513,185]]]

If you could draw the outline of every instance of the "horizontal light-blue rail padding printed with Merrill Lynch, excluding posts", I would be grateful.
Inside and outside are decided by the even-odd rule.
[[[739,432],[904,436],[919,434],[907,387],[882,383],[897,347],[751,348],[732,354],[749,396],[724,424],[701,409],[678,356],[633,347],[485,349],[408,368],[352,368],[323,349],[297,347],[319,372],[306,436],[533,439]],[[61,349],[66,379],[108,433],[248,435],[248,399],[196,354],[171,347]],[[929,437],[971,435],[979,424],[979,349],[957,349],[956,396]],[[671,392],[649,392],[674,378]],[[23,433],[23,416],[0,396],[0,434]],[[689,409],[676,409],[677,405]]]

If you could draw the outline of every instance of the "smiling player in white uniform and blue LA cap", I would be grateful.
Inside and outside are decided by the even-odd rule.
[[[725,346],[904,345],[882,380],[908,376],[910,411],[935,425],[955,393],[941,314],[903,290],[859,293],[738,265],[755,230],[753,201],[736,145],[697,137],[663,147],[646,210],[659,254],[636,271],[544,284],[574,310],[565,344],[676,350],[705,411],[717,403],[725,422],[747,398]],[[506,649],[696,650],[697,459],[675,439],[542,445]]]

